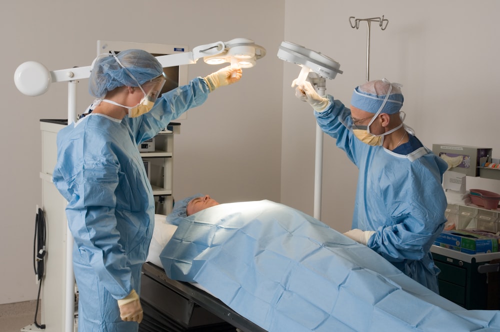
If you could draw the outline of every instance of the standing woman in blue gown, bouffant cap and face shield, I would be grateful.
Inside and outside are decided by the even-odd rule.
[[[80,332],[137,331],[142,319],[138,292],[154,199],[137,144],[218,86],[238,81],[241,69],[222,68],[157,98],[163,75],[143,50],[98,56],[89,77],[96,99],[57,134],[53,182],[68,201]]]

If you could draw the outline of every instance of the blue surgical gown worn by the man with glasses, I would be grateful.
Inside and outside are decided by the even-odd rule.
[[[317,123],[359,168],[352,228],[375,231],[368,247],[438,292],[439,269],[429,250],[446,221],[446,163],[424,146],[403,155],[361,142],[349,130],[350,110],[328,99],[323,112],[314,112]]]

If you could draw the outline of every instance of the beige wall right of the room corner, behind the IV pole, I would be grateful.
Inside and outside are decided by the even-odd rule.
[[[500,86],[500,2],[466,1],[285,1],[285,40],[322,52],[343,74],[327,80],[326,92],[350,105],[354,86],[366,79],[366,22],[351,28],[348,17],[388,19],[385,30],[371,23],[370,79],[403,84],[403,110],[422,143],[493,148],[500,157],[497,95]],[[314,118],[294,97],[299,67],[285,63],[281,201],[312,214]],[[350,228],[357,168],[324,136],[321,220],[339,231]],[[467,176],[467,188],[500,192],[500,181]]]

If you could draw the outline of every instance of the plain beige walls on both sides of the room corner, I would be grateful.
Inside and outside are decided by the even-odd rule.
[[[182,120],[174,151],[177,197],[199,191],[221,202],[267,198],[312,214],[315,123],[289,87],[299,67],[277,59],[276,52],[288,40],[340,62],[344,73],[327,81],[326,92],[348,105],[366,74],[366,25],[351,28],[349,16],[389,20],[384,31],[372,25],[370,77],[403,84],[406,123],[425,145],[488,145],[500,157],[496,0],[142,3],[27,0],[2,6],[0,250],[1,265],[10,272],[0,276],[0,303],[36,297],[31,251],[35,205],[41,202],[39,119],[65,117],[67,98],[64,83],[38,97],[22,95],[13,85],[14,70],[26,60],[50,70],[88,65],[97,39],[193,47],[248,37],[266,47],[267,55],[244,70],[241,82],[215,91]],[[215,69],[200,62],[189,66],[189,76]],[[81,81],[78,108],[90,101]],[[321,219],[347,230],[357,170],[327,136],[323,172]],[[500,192],[500,181],[467,181],[469,188]]]

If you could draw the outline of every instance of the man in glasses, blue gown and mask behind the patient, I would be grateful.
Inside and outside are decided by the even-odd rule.
[[[350,109],[319,96],[308,81],[295,94],[359,168],[353,229],[344,234],[438,293],[439,269],[429,250],[446,221],[441,181],[447,164],[403,125],[400,86],[386,79],[361,84]]]

